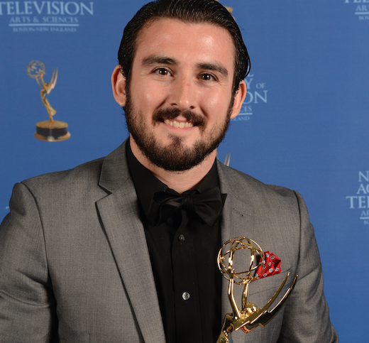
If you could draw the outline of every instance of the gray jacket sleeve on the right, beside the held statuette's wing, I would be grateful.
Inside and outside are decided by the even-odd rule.
[[[338,335],[329,319],[324,298],[323,272],[309,214],[295,192],[300,213],[300,244],[297,283],[285,305],[279,343],[336,343]]]

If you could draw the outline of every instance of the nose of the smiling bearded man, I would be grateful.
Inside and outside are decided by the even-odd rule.
[[[170,105],[181,111],[193,110],[197,107],[197,92],[190,77],[178,77],[170,90]]]

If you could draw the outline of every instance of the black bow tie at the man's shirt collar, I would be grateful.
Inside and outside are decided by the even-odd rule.
[[[180,209],[192,210],[206,224],[214,227],[221,215],[226,194],[221,194],[219,186],[197,193],[187,190],[182,195],[171,192],[155,192],[148,209],[148,220],[153,227],[165,222]]]

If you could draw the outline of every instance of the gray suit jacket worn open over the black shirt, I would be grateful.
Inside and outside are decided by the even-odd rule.
[[[249,300],[262,307],[287,272],[299,274],[277,317],[233,333],[233,342],[338,342],[302,198],[221,163],[218,169],[228,195],[222,240],[246,236],[282,259],[282,273],[252,283]],[[10,207],[0,229],[1,342],[165,342],[125,144],[106,158],[18,183]],[[227,287],[224,280],[224,313],[231,312]]]

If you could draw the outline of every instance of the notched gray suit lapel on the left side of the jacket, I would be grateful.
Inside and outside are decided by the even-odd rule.
[[[126,165],[125,144],[104,160],[99,185],[110,194],[97,202],[97,209],[143,339],[165,342],[136,190]]]

